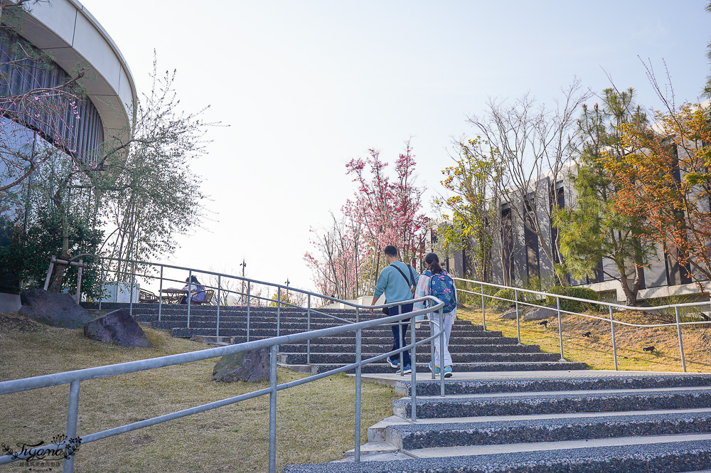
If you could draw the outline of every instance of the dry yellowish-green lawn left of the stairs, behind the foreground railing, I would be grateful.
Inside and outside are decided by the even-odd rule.
[[[55,329],[19,314],[0,314],[0,381],[205,349],[145,329],[152,349],[86,339],[82,329]],[[211,381],[218,358],[99,380],[80,388],[77,433],[117,427],[269,386]],[[279,368],[279,383],[305,375]],[[0,396],[0,442],[49,442],[65,431],[69,386]],[[367,429],[392,415],[392,388],[363,383],[362,442]],[[277,471],[287,464],[326,462],[353,448],[355,380],[331,376],[277,395]],[[264,472],[269,450],[269,397],[109,437],[77,451],[75,472]],[[3,472],[34,472],[33,463]],[[39,471],[48,471],[40,469]],[[58,471],[53,467],[52,471]]]

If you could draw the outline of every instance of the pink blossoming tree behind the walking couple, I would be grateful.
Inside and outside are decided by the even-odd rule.
[[[329,230],[314,232],[314,253],[306,260],[314,282],[324,294],[355,299],[373,290],[383,267],[383,248],[395,245],[403,262],[417,264],[429,218],[422,213],[422,192],[415,179],[415,155],[410,142],[395,160],[395,176],[376,149],[366,159],[352,159],[346,173],[358,185],[355,195],[341,208],[342,218],[332,216]]]

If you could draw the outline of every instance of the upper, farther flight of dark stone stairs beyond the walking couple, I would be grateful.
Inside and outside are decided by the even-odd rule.
[[[85,304],[87,308],[95,305]],[[102,309],[117,309],[127,304],[106,303]],[[134,304],[137,321],[149,323],[159,329],[170,330],[173,336],[197,338],[214,344],[235,344],[247,341],[247,310],[245,307],[220,307],[220,336],[216,337],[217,307],[193,306],[190,327],[187,326],[187,306],[164,304],[158,321],[158,304]],[[355,321],[354,310],[319,309],[349,322]],[[359,319],[380,317],[369,311],[360,311]],[[311,313],[311,330],[346,324],[322,314]],[[282,309],[279,314],[279,334],[296,334],[307,330],[305,309]],[[422,324],[416,330],[418,340],[429,336],[429,326]],[[250,310],[250,340],[277,336],[277,308],[252,307]],[[407,333],[410,340],[410,331]],[[449,349],[454,361],[454,372],[465,371],[551,371],[580,370],[584,363],[559,361],[558,354],[542,353],[538,345],[518,345],[518,340],[502,336],[501,331],[485,331],[469,321],[457,320],[452,328]],[[363,359],[377,356],[392,347],[389,326],[363,331]],[[417,371],[429,373],[429,345],[417,351]],[[282,366],[307,373],[323,373],[355,362],[355,332],[346,336],[328,336],[311,341],[311,355],[307,360],[306,344],[279,346],[279,363]],[[363,366],[363,373],[392,373],[385,362]]]

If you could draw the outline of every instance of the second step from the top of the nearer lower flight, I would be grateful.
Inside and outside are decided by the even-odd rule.
[[[565,363],[562,363],[565,364]],[[473,417],[577,412],[615,412],[711,407],[711,388],[662,390],[559,391],[554,393],[417,397],[418,418]],[[392,412],[409,418],[411,398],[392,401]]]

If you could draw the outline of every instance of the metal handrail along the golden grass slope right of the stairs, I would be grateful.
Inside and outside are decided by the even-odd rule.
[[[705,324],[711,324],[711,320],[700,320],[700,321],[690,321],[690,322],[682,322],[680,321],[679,317],[679,309],[680,307],[701,307],[701,306],[708,306],[711,304],[711,301],[705,301],[705,302],[684,302],[681,304],[664,304],[664,305],[659,305],[659,306],[653,306],[653,307],[631,307],[627,306],[624,304],[614,304],[613,302],[604,302],[604,301],[595,301],[592,299],[582,299],[580,297],[571,297],[571,296],[565,296],[562,294],[552,294],[550,292],[543,292],[543,291],[536,291],[533,289],[522,289],[519,287],[510,287],[510,286],[504,286],[504,285],[497,285],[493,284],[491,282],[482,282],[482,281],[476,281],[476,280],[466,280],[461,277],[453,277],[453,280],[456,281],[462,281],[465,283],[471,283],[472,285],[477,285],[481,288],[480,292],[472,291],[469,289],[464,289],[464,288],[457,288],[457,292],[466,292],[469,294],[474,294],[474,295],[481,295],[481,319],[482,323],[484,326],[484,329],[486,329],[486,309],[485,306],[486,304],[484,303],[485,298],[489,299],[498,299],[506,302],[513,302],[515,303],[515,309],[516,309],[516,331],[518,333],[518,344],[521,344],[521,333],[520,333],[520,313],[519,313],[519,304],[523,304],[525,306],[530,306],[530,307],[538,307],[540,309],[552,309],[551,307],[548,306],[542,306],[539,304],[535,304],[533,302],[525,302],[525,301],[520,301],[518,300],[518,293],[519,292],[525,292],[528,294],[535,294],[538,297],[555,297],[555,302],[556,302],[556,308],[555,311],[557,313],[557,318],[558,318],[558,338],[559,338],[559,344],[560,344],[560,361],[566,361],[564,356],[563,356],[563,334],[562,334],[562,324],[560,320],[560,314],[570,314],[570,315],[577,315],[579,317],[587,317],[588,319],[597,319],[597,320],[602,320],[602,321],[609,321],[610,322],[610,331],[611,331],[611,336],[612,336],[612,356],[614,360],[614,366],[615,370],[618,370],[618,364],[617,364],[617,346],[616,346],[616,341],[615,341],[615,324],[623,325],[623,326],[633,326],[633,327],[639,327],[639,328],[657,328],[657,327],[666,327],[666,326],[675,326],[677,329],[677,334],[678,334],[678,339],[679,339],[679,353],[680,353],[680,358],[681,358],[681,366],[682,370],[684,373],[686,373],[686,358],[685,358],[685,353],[684,353],[684,342],[682,339],[681,335],[681,327],[684,325],[705,325]],[[493,294],[486,294],[483,290],[484,286],[486,287],[495,287],[498,289],[511,289],[514,291],[514,298],[513,299],[508,299],[506,297],[499,297],[495,296]],[[596,304],[599,306],[606,306],[609,309],[609,318],[604,318],[604,317],[597,317],[594,315],[589,315],[589,314],[582,314],[580,312],[572,312],[572,311],[567,311],[565,309],[560,308],[560,299],[565,299],[565,300],[571,300],[575,302],[584,302],[585,304]],[[676,316],[676,321],[669,323],[669,324],[631,324],[629,322],[624,322],[620,320],[615,320],[614,319],[614,312],[613,308],[616,309],[622,309],[622,310],[638,310],[638,311],[645,311],[645,310],[661,310],[661,309],[674,309],[675,316]]]

